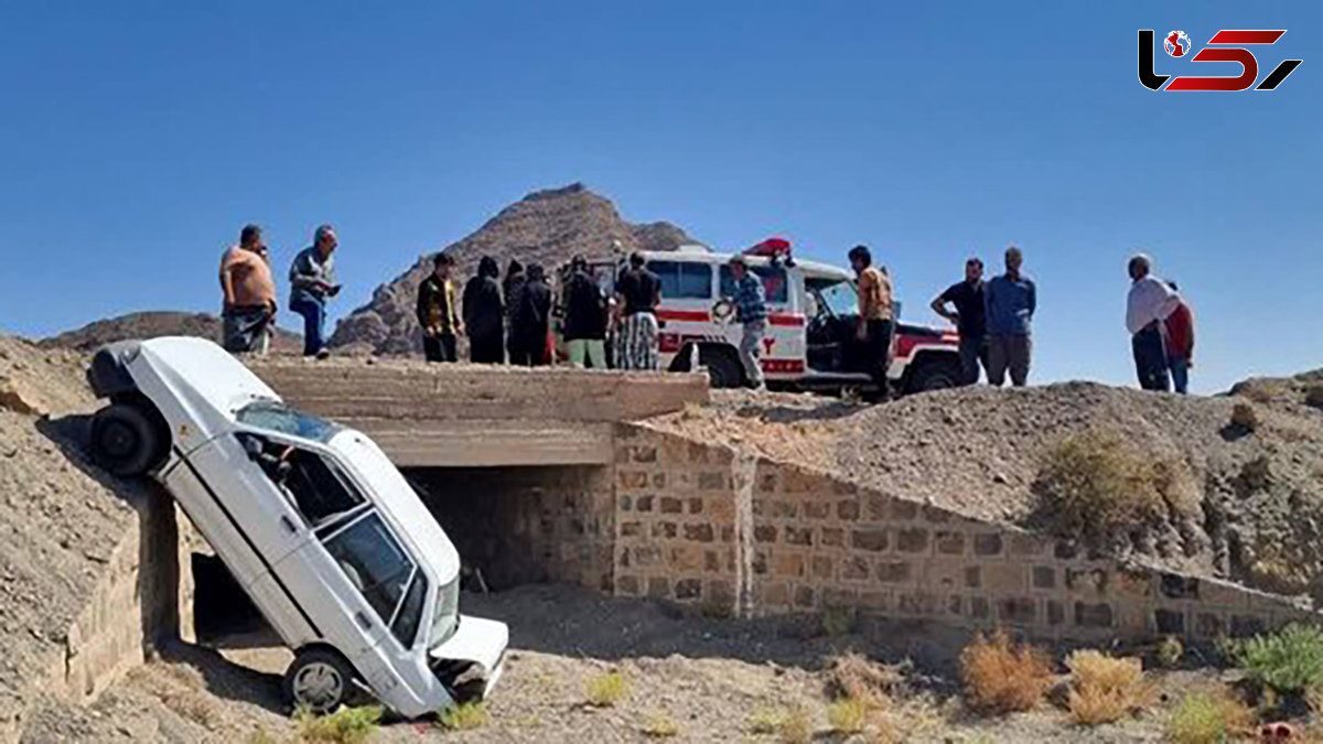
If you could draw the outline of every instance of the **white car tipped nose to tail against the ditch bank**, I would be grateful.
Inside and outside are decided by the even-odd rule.
[[[94,457],[175,495],[295,651],[294,704],[331,711],[357,684],[417,718],[496,683],[505,624],[459,614],[459,555],[372,440],[202,339],[110,344],[87,379],[111,401]]]

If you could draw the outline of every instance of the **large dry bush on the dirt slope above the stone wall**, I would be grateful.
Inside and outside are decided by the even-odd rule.
[[[1068,535],[1107,534],[1189,514],[1189,467],[1111,429],[1089,429],[1049,449],[1033,490],[1039,515]]]

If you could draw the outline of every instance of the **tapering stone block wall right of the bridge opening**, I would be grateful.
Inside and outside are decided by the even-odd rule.
[[[1229,582],[1090,556],[1070,541],[744,459],[622,425],[618,594],[744,616],[844,608],[1061,641],[1212,639],[1319,620]]]

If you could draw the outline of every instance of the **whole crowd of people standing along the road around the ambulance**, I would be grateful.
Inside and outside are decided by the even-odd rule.
[[[336,281],[335,228],[320,225],[312,244],[300,250],[290,266],[290,310],[303,318],[303,353],[325,357],[327,302],[340,291]],[[867,246],[848,254],[856,275],[859,298],[857,339],[869,357],[869,372],[877,387],[888,389],[886,375],[896,332],[892,278],[873,262]],[[235,353],[265,353],[270,346],[277,315],[275,282],[270,252],[258,225],[246,225],[238,245],[221,258],[222,346]],[[979,369],[991,385],[1024,387],[1032,364],[1033,314],[1037,290],[1023,273],[1024,253],[1009,246],[1005,271],[983,279],[979,257],[964,262],[964,277],[931,302],[934,312],[957,326],[963,384],[979,381]],[[761,353],[767,332],[769,307],[763,281],[749,269],[744,256],[729,261],[734,279],[733,295],[725,298],[742,328],[738,344],[745,380],[762,388]],[[1152,274],[1152,259],[1134,256],[1129,265],[1131,286],[1126,328],[1139,385],[1147,391],[1188,389],[1193,361],[1193,311],[1175,282]],[[478,263],[478,271],[458,290],[455,261],[448,253],[433,258],[431,271],[418,285],[415,316],[422,332],[427,361],[458,361],[467,338],[468,360],[480,364],[509,363],[525,367],[549,364],[553,357],[552,322],[561,318],[561,338],[569,361],[578,367],[618,369],[658,369],[656,310],[662,302],[662,281],[647,267],[642,253],[632,253],[614,282],[614,291],[591,274],[587,259],[576,256],[561,282],[557,298],[538,263],[523,266],[512,259],[501,277],[491,256]],[[610,351],[614,357],[609,363]]]

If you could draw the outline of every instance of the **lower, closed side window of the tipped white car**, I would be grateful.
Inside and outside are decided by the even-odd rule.
[[[325,549],[382,622],[396,618],[396,606],[405,596],[414,563],[380,515],[370,512],[331,535]]]

